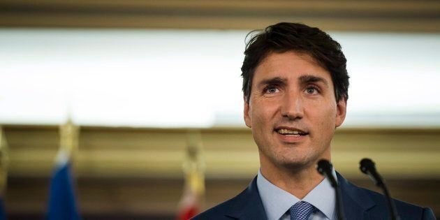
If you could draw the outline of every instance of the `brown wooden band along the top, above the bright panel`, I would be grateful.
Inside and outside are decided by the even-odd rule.
[[[332,31],[439,32],[435,0],[3,0],[0,27],[261,29],[304,22]]]

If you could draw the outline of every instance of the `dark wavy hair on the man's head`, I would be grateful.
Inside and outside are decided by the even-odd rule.
[[[271,52],[302,52],[309,54],[327,70],[335,87],[336,101],[349,98],[349,75],[341,45],[316,27],[281,22],[264,30],[251,31],[247,38],[242,66],[243,94],[249,103],[251,85],[258,64]]]

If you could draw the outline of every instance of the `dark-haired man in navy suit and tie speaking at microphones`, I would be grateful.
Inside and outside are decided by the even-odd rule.
[[[335,192],[315,166],[330,161],[330,142],[346,115],[341,46],[320,29],[279,23],[253,36],[244,54],[244,122],[261,167],[242,193],[194,219],[336,219]],[[381,194],[333,174],[346,219],[390,219]],[[429,208],[395,203],[402,219],[435,219]]]

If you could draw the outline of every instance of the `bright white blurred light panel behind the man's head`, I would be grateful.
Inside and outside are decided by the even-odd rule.
[[[248,31],[0,29],[0,124],[244,126]],[[345,126],[440,126],[440,35],[332,33]]]

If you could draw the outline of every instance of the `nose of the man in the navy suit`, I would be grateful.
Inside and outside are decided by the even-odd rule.
[[[304,116],[302,97],[298,94],[285,94],[281,103],[281,115],[290,120],[301,119]]]

